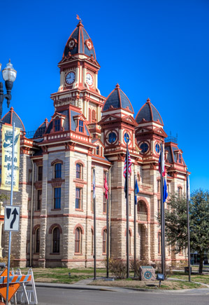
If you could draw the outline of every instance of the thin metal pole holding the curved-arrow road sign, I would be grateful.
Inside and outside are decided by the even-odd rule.
[[[13,205],[14,147],[15,147],[15,123],[13,123],[13,150],[12,150],[12,172],[11,172],[10,205]],[[8,305],[8,285],[9,285],[9,272],[10,272],[10,252],[11,252],[11,231],[9,232],[9,238],[8,238],[8,270],[7,270],[7,283],[6,283],[6,305]]]

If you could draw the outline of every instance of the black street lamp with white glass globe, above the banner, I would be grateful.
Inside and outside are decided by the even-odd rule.
[[[1,71],[1,63],[0,63],[0,71]],[[3,100],[6,98],[7,107],[9,107],[10,100],[12,98],[11,90],[13,88],[13,82],[15,81],[17,76],[17,71],[13,69],[13,65],[10,63],[10,60],[6,65],[6,68],[2,70],[2,76],[3,76],[3,80],[5,81],[6,94],[3,94],[3,83],[0,82],[0,121],[2,115]]]

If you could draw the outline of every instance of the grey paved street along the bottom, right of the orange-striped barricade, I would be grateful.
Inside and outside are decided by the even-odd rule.
[[[191,292],[122,292],[73,290],[37,287],[38,305],[208,305],[209,291]]]

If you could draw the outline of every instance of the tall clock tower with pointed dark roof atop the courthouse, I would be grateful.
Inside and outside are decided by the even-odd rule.
[[[105,97],[98,88],[100,65],[96,60],[94,44],[80,21],[66,42],[59,62],[60,86],[51,95],[55,111],[69,104],[79,107],[89,124],[93,137],[100,137],[101,109]]]

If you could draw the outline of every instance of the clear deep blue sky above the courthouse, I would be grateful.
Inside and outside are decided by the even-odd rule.
[[[57,63],[76,14],[101,65],[101,94],[119,83],[135,116],[150,97],[166,133],[178,133],[191,189],[209,189],[209,1],[2,1],[0,62],[10,58],[17,70],[10,106],[27,131],[53,114]]]

